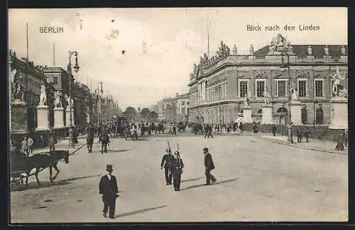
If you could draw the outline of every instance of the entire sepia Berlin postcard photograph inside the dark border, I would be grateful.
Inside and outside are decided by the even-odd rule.
[[[9,9],[9,224],[348,221],[346,8]]]

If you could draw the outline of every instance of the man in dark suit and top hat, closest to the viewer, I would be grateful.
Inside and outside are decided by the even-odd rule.
[[[109,218],[114,219],[116,208],[116,198],[119,197],[119,188],[117,186],[116,177],[112,175],[112,165],[106,166],[107,173],[101,177],[99,183],[99,194],[104,202],[104,217],[107,217],[107,209],[109,209]]]

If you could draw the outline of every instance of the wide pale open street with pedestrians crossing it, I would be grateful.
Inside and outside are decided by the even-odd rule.
[[[160,160],[178,141],[185,163],[180,192],[166,186]],[[208,147],[217,182],[204,186]],[[116,219],[102,217],[100,175],[114,167],[120,197]],[[107,154],[82,148],[60,163],[54,183],[11,192],[11,222],[347,221],[347,155],[283,146],[257,136],[111,138]]]

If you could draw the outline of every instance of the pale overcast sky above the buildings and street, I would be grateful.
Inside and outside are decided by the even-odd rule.
[[[92,88],[102,81],[104,94],[121,108],[187,92],[193,64],[207,53],[208,23],[210,51],[224,40],[246,54],[251,44],[258,50],[278,33],[292,44],[348,43],[346,8],[10,9],[9,47],[18,57],[26,57],[26,23],[35,65],[53,66],[53,43],[56,67],[66,69],[68,51],[76,50],[77,80]],[[278,24],[280,31],[246,31],[249,24],[262,30]],[[283,31],[285,24],[296,31]],[[298,24],[320,31],[298,31]],[[63,27],[64,33],[40,33],[40,26]]]

